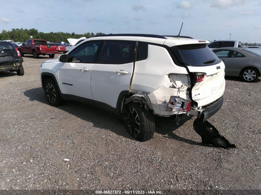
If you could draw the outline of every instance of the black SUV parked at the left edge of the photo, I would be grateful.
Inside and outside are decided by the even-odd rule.
[[[23,58],[19,51],[11,42],[0,41],[0,71],[17,72],[17,75],[22,76]]]

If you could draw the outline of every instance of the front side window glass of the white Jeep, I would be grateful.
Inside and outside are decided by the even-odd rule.
[[[95,63],[100,44],[101,42],[95,41],[80,45],[69,54],[69,62]]]

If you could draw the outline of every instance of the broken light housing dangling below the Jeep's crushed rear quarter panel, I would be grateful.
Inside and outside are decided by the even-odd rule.
[[[191,109],[191,102],[177,96],[170,96],[168,107],[182,112],[188,112]]]

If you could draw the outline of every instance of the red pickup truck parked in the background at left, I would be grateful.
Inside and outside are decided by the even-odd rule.
[[[32,54],[34,58],[39,55],[48,54],[50,58],[54,58],[54,54],[58,54],[56,45],[48,45],[47,41],[43,39],[29,39],[19,46],[21,56],[24,54]]]

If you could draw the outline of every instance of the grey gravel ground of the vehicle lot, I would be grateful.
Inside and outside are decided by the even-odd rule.
[[[107,112],[50,106],[39,79],[49,58],[23,59],[24,76],[0,74],[0,189],[261,189],[260,79],[226,77],[223,107],[209,119],[237,148],[201,144],[195,118],[156,118],[154,138],[138,142]]]

